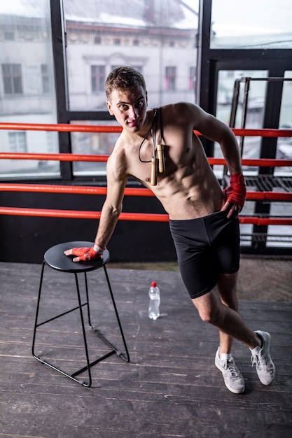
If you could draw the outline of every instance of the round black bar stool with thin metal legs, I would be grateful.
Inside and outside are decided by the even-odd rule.
[[[90,246],[93,246],[92,242],[73,241],[73,242],[67,242],[67,243],[60,243],[59,245],[55,245],[46,251],[46,253],[43,257],[43,265],[42,265],[42,269],[41,269],[41,280],[40,280],[40,284],[39,284],[39,297],[38,297],[37,306],[36,306],[36,320],[35,320],[35,324],[34,324],[34,337],[33,337],[33,341],[32,341],[32,355],[34,356],[34,358],[36,360],[39,360],[39,362],[41,362],[45,365],[48,365],[48,367],[55,369],[55,371],[60,372],[64,376],[67,376],[69,379],[72,379],[78,383],[81,383],[81,385],[86,386],[88,388],[92,385],[92,377],[91,377],[90,368],[93,365],[97,364],[97,362],[100,362],[101,360],[108,358],[109,356],[113,355],[114,353],[116,353],[118,356],[120,356],[120,358],[122,358],[126,362],[130,362],[130,356],[129,356],[129,353],[127,350],[127,344],[126,344],[125,337],[123,334],[122,326],[120,324],[120,318],[118,316],[116,302],[115,302],[115,299],[113,297],[113,291],[111,289],[111,283],[109,282],[109,276],[108,276],[107,271],[106,271],[106,263],[109,262],[109,251],[105,250],[102,257],[100,257],[98,260],[92,260],[92,262],[73,262],[73,260],[72,260],[73,257],[68,257],[67,255],[64,255],[64,250],[67,250],[70,248],[75,248],[75,247],[90,247]],[[53,318],[44,320],[41,323],[39,323],[38,319],[39,319],[39,309],[40,309],[40,302],[41,302],[41,289],[42,289],[42,284],[43,284],[43,271],[44,271],[44,268],[46,265],[50,268],[57,269],[57,271],[60,271],[60,272],[71,272],[72,274],[74,274],[75,281],[76,281],[76,292],[77,292],[77,297],[78,297],[78,306],[74,307],[73,309],[70,309],[69,311],[65,311],[63,313],[60,313],[57,316],[54,316]],[[106,276],[106,282],[107,282],[107,285],[109,287],[111,300],[113,302],[113,309],[116,313],[116,319],[118,321],[120,335],[123,339],[125,353],[122,353],[120,350],[118,350],[118,348],[113,346],[113,344],[111,344],[111,342],[109,342],[104,337],[104,335],[101,332],[99,332],[99,330],[97,330],[96,327],[93,327],[91,324],[90,304],[89,304],[89,298],[88,298],[88,280],[87,280],[86,273],[88,271],[94,271],[95,269],[99,269],[101,267],[104,268],[104,274]],[[84,276],[85,276],[85,293],[86,293],[86,297],[85,297],[86,301],[85,302],[81,302],[81,294],[80,294],[79,283],[78,283],[78,274],[81,274],[81,273],[84,273]],[[111,348],[109,353],[102,355],[101,357],[97,358],[93,362],[90,362],[90,360],[89,360],[88,342],[86,339],[84,317],[83,317],[83,306],[85,306],[87,308],[88,323],[89,323],[90,327],[102,339],[102,341],[104,341]],[[78,369],[78,371],[74,372],[73,374],[69,374],[67,372],[62,371],[62,369],[55,367],[54,365],[50,364],[50,362],[40,358],[39,356],[37,356],[34,353],[35,342],[36,342],[36,332],[37,332],[37,328],[40,327],[41,325],[49,323],[50,321],[53,321],[57,318],[60,318],[61,316],[67,315],[68,313],[71,313],[71,312],[76,311],[78,309],[79,309],[80,317],[81,317],[81,326],[82,326],[82,332],[83,332],[86,365],[85,365],[85,367]],[[76,378],[76,376],[78,376],[78,374],[81,374],[81,373],[85,372],[86,370],[88,371],[88,381],[82,381],[81,379]]]

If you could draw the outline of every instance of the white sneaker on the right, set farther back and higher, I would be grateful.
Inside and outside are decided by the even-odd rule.
[[[251,363],[256,365],[256,372],[260,382],[263,385],[270,385],[276,374],[276,368],[270,356],[270,333],[261,332],[260,330],[257,330],[255,333],[263,341],[263,346],[253,348],[253,350],[250,348]]]

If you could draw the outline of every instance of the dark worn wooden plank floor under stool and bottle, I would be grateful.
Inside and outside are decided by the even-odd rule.
[[[272,334],[277,376],[271,386],[261,385],[248,348],[235,341],[246,391],[234,395],[214,366],[218,334],[197,317],[178,272],[108,272],[130,363],[111,355],[92,367],[92,388],[84,388],[32,357],[41,266],[0,263],[0,437],[291,437],[291,301],[240,300],[246,323]],[[162,296],[156,321],[147,315],[153,280]],[[76,305],[73,281],[72,274],[45,270],[41,316]],[[90,272],[88,283],[95,324],[122,348],[103,271]],[[39,327],[36,339],[38,351],[69,372],[83,366],[77,317],[70,313]],[[88,341],[91,360],[106,353],[91,330]]]

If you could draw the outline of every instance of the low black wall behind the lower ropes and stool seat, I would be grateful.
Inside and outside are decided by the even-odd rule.
[[[34,209],[100,211],[103,196],[1,192],[2,206]],[[125,197],[123,211],[165,213],[152,197]],[[50,246],[65,241],[93,241],[98,220],[0,216],[0,261],[41,263]],[[168,222],[119,220],[109,242],[111,261],[174,261]]]

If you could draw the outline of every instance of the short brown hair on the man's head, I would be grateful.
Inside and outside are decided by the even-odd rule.
[[[140,85],[146,91],[144,76],[139,71],[130,66],[117,67],[106,79],[106,97],[109,99],[113,90],[127,90]]]

